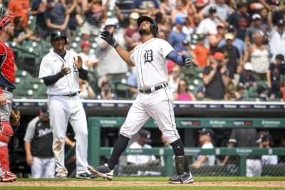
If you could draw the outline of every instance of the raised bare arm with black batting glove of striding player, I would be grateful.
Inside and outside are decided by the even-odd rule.
[[[125,63],[132,67],[135,66],[135,64],[130,60],[130,53],[128,51],[125,51],[125,49],[120,46],[118,42],[115,41],[113,33],[110,33],[109,31],[103,31],[101,33],[101,38],[107,43],[109,43],[110,46],[113,46],[115,48],[115,51],[117,51],[120,57],[125,60]]]

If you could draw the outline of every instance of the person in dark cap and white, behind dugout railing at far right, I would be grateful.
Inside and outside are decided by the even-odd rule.
[[[270,134],[261,135],[261,147],[270,149],[272,143],[272,138]],[[277,155],[262,155],[261,162],[263,165],[277,165],[278,156]]]

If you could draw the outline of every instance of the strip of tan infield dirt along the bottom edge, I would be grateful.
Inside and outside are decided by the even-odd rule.
[[[284,187],[285,181],[212,181],[194,182],[193,184],[169,184],[162,181],[15,181],[0,183],[1,186],[254,186]]]

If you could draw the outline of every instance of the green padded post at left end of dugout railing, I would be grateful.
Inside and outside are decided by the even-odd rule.
[[[88,118],[88,163],[93,166],[100,164],[100,125],[96,121]]]

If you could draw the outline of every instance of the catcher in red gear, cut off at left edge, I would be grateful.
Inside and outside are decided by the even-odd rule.
[[[11,23],[13,14],[6,9],[0,9],[0,181],[16,181],[17,177],[11,173],[9,167],[8,143],[13,136],[13,129],[9,123],[12,91],[15,89],[14,53],[6,46],[6,41],[14,36],[14,26]]]

